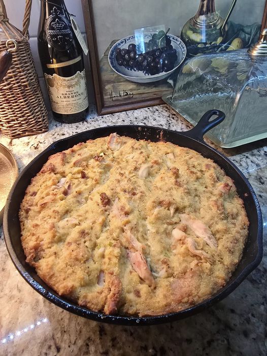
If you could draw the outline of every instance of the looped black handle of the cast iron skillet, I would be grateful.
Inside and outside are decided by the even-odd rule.
[[[217,115],[215,119],[209,121],[213,115]],[[198,141],[204,141],[203,136],[206,132],[210,131],[211,128],[217,126],[225,119],[225,114],[220,110],[209,110],[207,111],[202,118],[197,122],[195,127],[187,132],[183,132],[183,135],[188,136],[192,139]]]

